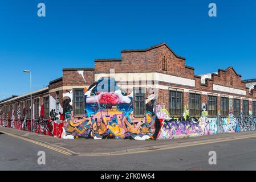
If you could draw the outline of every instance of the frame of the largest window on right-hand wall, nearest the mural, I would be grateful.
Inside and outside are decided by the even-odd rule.
[[[172,93],[174,93],[172,96]],[[181,94],[181,97],[180,95],[178,94]],[[183,115],[183,101],[184,101],[184,90],[180,90],[180,89],[169,89],[169,113],[170,115],[177,115],[177,116],[181,116]],[[175,99],[175,100],[179,100],[179,103],[178,102],[174,102],[174,107],[172,105],[172,100]],[[180,108],[177,108],[178,105],[180,104]],[[174,111],[174,112],[173,112]]]

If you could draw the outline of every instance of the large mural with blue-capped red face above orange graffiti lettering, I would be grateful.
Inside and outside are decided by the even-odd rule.
[[[113,78],[100,78],[85,90],[84,116],[79,119],[73,116],[73,93],[63,94],[66,135],[94,139],[152,138],[155,133],[155,97],[146,101],[145,117],[136,118],[133,115],[133,93],[127,95]]]

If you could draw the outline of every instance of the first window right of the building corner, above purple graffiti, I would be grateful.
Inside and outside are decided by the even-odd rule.
[[[177,90],[170,90],[170,114],[171,115],[182,115],[182,92]]]

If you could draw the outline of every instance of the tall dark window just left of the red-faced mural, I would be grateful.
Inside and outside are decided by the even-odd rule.
[[[75,115],[84,115],[84,90],[75,90]]]

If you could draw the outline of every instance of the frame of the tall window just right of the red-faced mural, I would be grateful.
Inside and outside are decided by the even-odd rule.
[[[139,93],[138,96],[136,96],[135,90],[144,90],[144,93],[141,92]],[[137,101],[136,97],[142,97],[142,100]],[[140,109],[143,109],[143,113],[137,113],[137,106],[136,103],[143,103],[143,108],[139,107]],[[133,88],[133,115],[135,116],[135,118],[142,118],[145,117],[146,114],[146,88],[144,87],[134,87]]]

